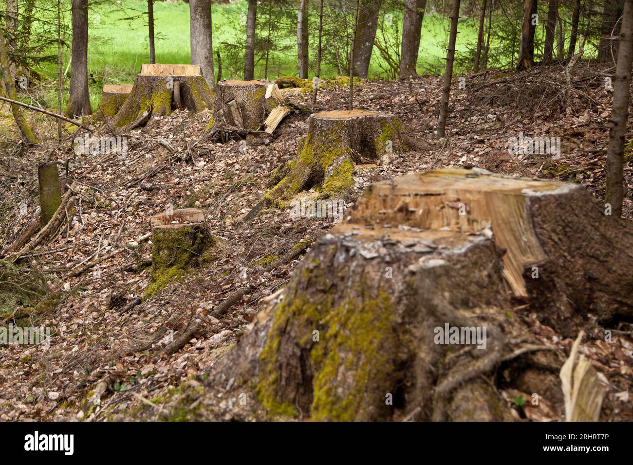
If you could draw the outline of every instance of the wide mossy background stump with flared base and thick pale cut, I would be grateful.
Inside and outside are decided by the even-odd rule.
[[[179,90],[179,94],[175,94]],[[169,116],[172,109],[182,108],[189,111],[202,111],[212,108],[213,92],[206,84],[196,65],[142,65],[141,74],[136,77],[134,87],[125,100],[123,107],[116,113],[113,123],[116,127],[127,127],[153,116]]]

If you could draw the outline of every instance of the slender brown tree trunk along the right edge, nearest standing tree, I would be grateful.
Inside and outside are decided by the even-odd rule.
[[[633,59],[633,0],[626,0],[620,27],[618,63],[613,82],[613,109],[609,130],[609,149],[606,155],[605,202],[611,204],[611,214],[622,216],[624,197],[624,135],[627,132]]]

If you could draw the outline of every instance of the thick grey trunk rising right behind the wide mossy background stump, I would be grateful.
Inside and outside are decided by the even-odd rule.
[[[190,0],[191,64],[200,66],[210,89],[215,89],[211,0]]]

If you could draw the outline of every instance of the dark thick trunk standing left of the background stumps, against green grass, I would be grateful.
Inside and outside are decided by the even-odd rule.
[[[92,113],[88,92],[88,0],[72,0],[72,23],[72,74],[66,116],[81,118]]]

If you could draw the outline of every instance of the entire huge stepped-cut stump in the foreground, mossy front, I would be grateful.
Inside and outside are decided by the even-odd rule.
[[[502,363],[520,371],[517,351],[536,343],[508,289],[525,289],[530,313],[574,336],[590,314],[633,315],[633,231],[602,211],[579,185],[479,170],[376,183],[209,384],[225,388],[235,418],[510,419],[497,378],[481,376]],[[506,271],[532,263],[538,278]],[[256,402],[236,408],[244,394]]]

